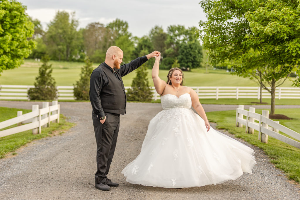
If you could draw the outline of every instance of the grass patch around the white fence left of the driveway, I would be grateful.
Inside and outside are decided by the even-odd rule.
[[[19,109],[19,108],[5,108],[0,107],[0,122],[14,118],[17,115],[17,111],[23,111],[23,114],[31,112],[31,110]],[[4,158],[6,155],[16,154],[14,151],[29,142],[36,139],[41,139],[48,136],[54,136],[55,134],[62,134],[66,130],[69,130],[74,124],[67,122],[63,115],[60,115],[59,123],[51,123],[50,127],[42,128],[42,133],[33,135],[32,130],[23,131],[21,133],[12,134],[9,136],[0,138],[0,158]],[[16,127],[13,125],[9,128]],[[55,133],[54,133],[55,132]]]

